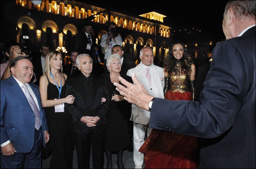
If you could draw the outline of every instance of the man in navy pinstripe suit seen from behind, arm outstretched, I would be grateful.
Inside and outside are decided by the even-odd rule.
[[[198,101],[170,101],[148,95],[119,78],[124,99],[151,110],[149,127],[200,137],[198,168],[256,168],[255,0],[227,3],[227,41],[212,52],[211,68]]]

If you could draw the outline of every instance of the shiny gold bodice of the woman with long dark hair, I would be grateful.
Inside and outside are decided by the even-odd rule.
[[[173,92],[187,92],[189,91],[189,75],[175,75],[169,76],[170,87],[169,90]]]

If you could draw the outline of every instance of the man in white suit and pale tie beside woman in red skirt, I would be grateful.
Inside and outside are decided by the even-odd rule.
[[[127,75],[135,73],[137,79],[144,85],[148,93],[154,97],[164,98],[164,74],[163,68],[154,65],[153,50],[145,46],[140,50],[141,62],[135,68],[128,70]],[[135,169],[141,169],[143,165],[143,153],[139,152],[144,143],[145,133],[150,134],[152,128],[148,128],[150,112],[135,106],[131,107],[131,118],[134,122],[134,163]]]

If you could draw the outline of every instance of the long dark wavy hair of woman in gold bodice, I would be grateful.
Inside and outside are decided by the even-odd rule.
[[[175,57],[172,54],[172,48],[174,45],[177,45],[177,44],[182,45],[183,49],[184,49],[183,56],[179,60],[175,59]],[[180,41],[176,41],[172,44],[171,48],[169,49],[169,51],[167,53],[167,57],[163,63],[163,67],[165,68],[165,71],[169,75],[174,73],[173,75],[175,76],[177,73],[179,73],[179,72],[177,72],[177,69],[175,68],[175,65],[177,64],[176,62],[180,62],[181,73],[189,75],[189,73],[191,72],[191,65],[193,64],[193,60],[188,55],[185,45]]]

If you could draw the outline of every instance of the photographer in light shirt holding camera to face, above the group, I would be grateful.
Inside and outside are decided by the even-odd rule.
[[[103,34],[101,37],[101,47],[104,48],[107,45],[108,51],[104,56],[104,64],[106,65],[108,57],[112,54],[112,47],[114,45],[122,46],[122,37],[116,31],[116,23],[110,22],[108,24],[109,32],[107,34]]]

